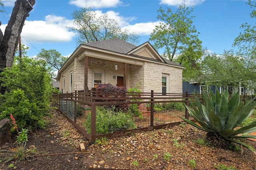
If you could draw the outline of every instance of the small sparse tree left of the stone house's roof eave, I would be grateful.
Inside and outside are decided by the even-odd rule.
[[[47,66],[51,70],[51,77],[54,79],[56,79],[56,74],[54,72],[59,71],[68,59],[68,57],[61,56],[55,49],[41,49],[36,58],[46,61]]]

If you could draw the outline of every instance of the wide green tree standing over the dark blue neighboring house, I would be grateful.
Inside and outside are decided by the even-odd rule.
[[[242,57],[234,54],[234,51],[224,51],[222,55],[209,54],[204,57],[201,64],[202,76],[198,82],[218,87],[230,87],[230,89],[243,85],[255,88],[255,72],[246,67]],[[226,89],[228,90],[228,89]]]

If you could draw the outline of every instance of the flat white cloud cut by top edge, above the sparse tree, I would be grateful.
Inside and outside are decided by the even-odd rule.
[[[80,8],[110,8],[122,5],[120,0],[70,0],[69,3]]]

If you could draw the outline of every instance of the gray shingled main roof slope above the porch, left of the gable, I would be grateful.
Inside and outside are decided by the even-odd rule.
[[[90,47],[96,47],[96,48],[104,49],[108,51],[113,51],[116,53],[122,53],[122,54],[126,54],[137,47],[136,45],[123,41],[122,39],[119,39],[119,38],[85,43],[84,45],[88,45]]]

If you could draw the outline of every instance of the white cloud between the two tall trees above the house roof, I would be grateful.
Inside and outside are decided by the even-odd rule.
[[[130,32],[135,32],[138,35],[150,35],[156,25],[159,25],[160,21],[156,22],[142,22],[134,25],[127,25],[122,27],[122,30],[127,29]]]

